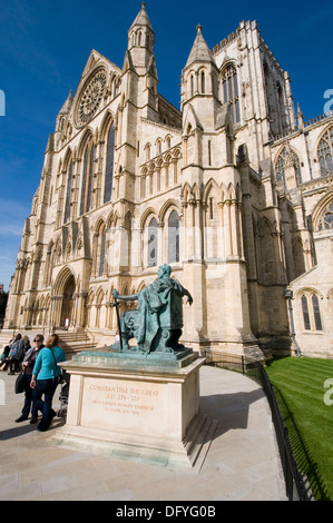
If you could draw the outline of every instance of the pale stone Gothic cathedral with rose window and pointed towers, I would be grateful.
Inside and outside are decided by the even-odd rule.
[[[112,289],[167,263],[194,298],[186,346],[332,357],[333,117],[295,111],[255,21],[213,50],[196,31],[180,110],[158,93],[144,3],[123,68],[91,51],[48,139],[4,327],[69,319],[109,345]]]

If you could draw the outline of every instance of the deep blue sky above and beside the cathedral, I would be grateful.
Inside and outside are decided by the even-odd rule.
[[[0,89],[6,95],[6,116],[0,116],[0,283],[6,289],[56,116],[68,91],[76,91],[91,49],[123,66],[127,31],[140,6],[140,0],[0,0]],[[333,89],[332,0],[147,0],[146,9],[156,38],[159,92],[177,107],[196,26],[202,24],[212,49],[241,20],[257,20],[262,37],[290,72],[294,101],[305,119],[324,112],[324,92]]]

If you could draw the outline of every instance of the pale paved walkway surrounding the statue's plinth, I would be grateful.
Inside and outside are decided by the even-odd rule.
[[[267,399],[238,373],[200,371],[202,409],[218,425],[199,473],[59,447],[52,435],[63,418],[46,433],[29,421],[16,424],[23,397],[13,393],[14,376],[0,373],[3,384],[0,500],[285,501]]]

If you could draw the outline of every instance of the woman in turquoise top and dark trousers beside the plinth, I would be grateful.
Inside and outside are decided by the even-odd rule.
[[[33,388],[32,402],[35,405],[32,408],[35,412],[37,412],[36,409],[42,411],[42,418],[37,427],[41,432],[49,428],[56,415],[52,409],[52,399],[61,375],[58,363],[66,359],[65,352],[58,346],[58,334],[51,334],[37,357],[30,382],[30,386]]]

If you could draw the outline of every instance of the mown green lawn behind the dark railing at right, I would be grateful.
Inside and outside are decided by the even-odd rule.
[[[266,372],[316,501],[333,501],[333,359],[285,357]],[[331,384],[326,384],[331,379]],[[330,385],[330,386],[329,386]]]

